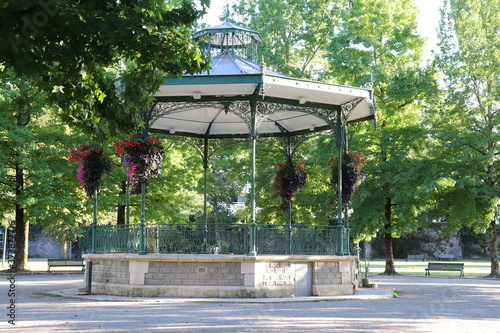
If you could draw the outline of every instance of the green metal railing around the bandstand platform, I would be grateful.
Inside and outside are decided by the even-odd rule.
[[[336,254],[337,230],[330,225],[257,224],[258,254]],[[344,233],[344,238],[345,237]],[[79,239],[83,253],[92,248],[92,227]],[[209,253],[218,247],[221,254],[248,254],[250,224],[155,224],[145,226],[147,253]],[[139,225],[95,226],[95,253],[138,253]],[[346,253],[347,254],[347,253]]]

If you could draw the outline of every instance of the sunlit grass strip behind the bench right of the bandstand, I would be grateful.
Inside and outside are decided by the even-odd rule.
[[[425,275],[425,268],[429,261],[406,261],[404,259],[395,260],[396,272],[401,275]],[[485,277],[491,273],[491,263],[486,260],[457,260],[455,262],[464,263],[464,273],[468,277]],[[369,272],[381,274],[385,270],[385,260],[370,260]],[[365,271],[365,262],[360,262],[361,272]],[[363,273],[362,273],[363,274]],[[432,271],[433,276],[459,276],[459,272]]]

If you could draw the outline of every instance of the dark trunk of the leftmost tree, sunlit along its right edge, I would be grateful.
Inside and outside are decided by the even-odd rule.
[[[24,170],[16,167],[16,205],[15,205],[15,221],[16,221],[16,254],[14,256],[14,265],[12,270],[21,272],[26,270],[28,262],[28,228],[29,223],[25,221],[24,208],[19,204],[21,194],[24,190]]]

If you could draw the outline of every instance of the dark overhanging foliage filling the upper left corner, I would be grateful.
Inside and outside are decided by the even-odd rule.
[[[4,1],[0,75],[36,78],[68,122],[129,130],[164,75],[205,68],[190,27],[208,4],[200,12],[189,0]]]

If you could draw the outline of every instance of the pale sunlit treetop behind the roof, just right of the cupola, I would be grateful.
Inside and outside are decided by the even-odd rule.
[[[296,77],[317,77],[324,41],[338,24],[336,3],[242,0],[233,7],[242,22],[264,37],[259,55],[266,66]]]

